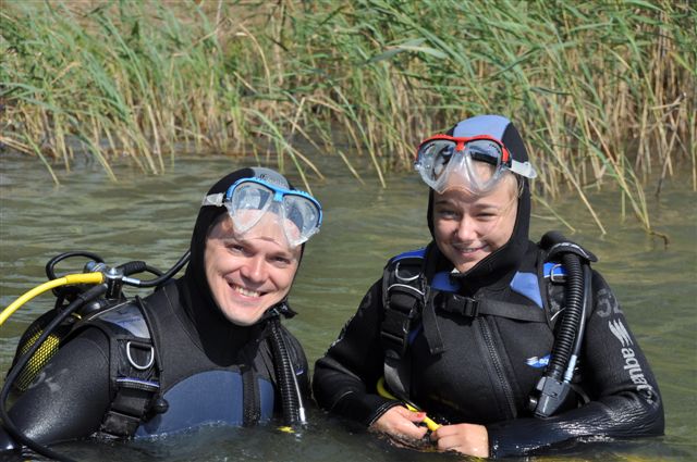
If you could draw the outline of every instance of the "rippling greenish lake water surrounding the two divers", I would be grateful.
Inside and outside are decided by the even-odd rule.
[[[426,189],[413,174],[388,176],[388,188],[366,173],[365,185],[348,175],[338,158],[319,160],[326,180],[310,177],[325,209],[325,224],[306,247],[291,304],[301,314],[286,322],[310,364],[333,341],[368,286],[391,255],[428,242]],[[53,185],[38,161],[2,154],[0,163],[0,305],[10,304],[46,280],[48,259],[69,250],[89,250],[109,264],[144,260],[166,270],[186,250],[200,199],[223,173],[249,161],[230,158],[178,158],[166,174],[144,177],[117,165],[119,183],[101,167],[83,162],[58,171]],[[60,168],[60,167],[57,167]],[[302,182],[292,172],[296,185]],[[620,216],[620,195],[591,195],[608,233],[601,235],[573,196],[553,207],[576,227],[572,233],[545,208],[534,208],[531,238],[560,229],[592,250],[595,265],[615,290],[632,329],[648,355],[663,395],[663,438],[587,444],[572,454],[535,460],[697,460],[697,195],[689,178],[668,182],[660,198],[650,196],[655,229],[670,245]],[[77,269],[76,269],[77,270]],[[130,294],[135,294],[131,291]],[[7,371],[20,335],[52,307],[44,295],[0,327],[0,370]],[[375,435],[310,413],[311,424],[294,435],[270,425],[259,428],[207,428],[158,441],[77,442],[58,450],[80,460],[117,461],[441,461],[454,454],[415,452]]]

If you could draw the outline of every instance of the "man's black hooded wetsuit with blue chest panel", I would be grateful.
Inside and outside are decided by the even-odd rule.
[[[235,180],[255,176],[244,168],[219,180],[208,193],[224,192]],[[157,347],[161,396],[167,412],[148,415],[135,436],[159,435],[205,424],[242,425],[268,421],[282,409],[270,347],[273,316],[252,326],[230,323],[216,302],[204,265],[209,227],[224,208],[201,208],[191,242],[191,261],[183,277],[143,300]],[[277,307],[286,311],[285,300]],[[106,330],[87,326],[61,346],[34,384],[10,409],[26,436],[51,444],[82,438],[100,429],[110,409],[112,389],[110,341]],[[281,327],[301,392],[309,396],[308,367],[297,340]],[[252,378],[246,380],[245,378]],[[249,390],[252,390],[249,392]],[[254,396],[253,396],[254,395]],[[306,399],[307,402],[307,399]],[[0,450],[14,446],[0,429]]]

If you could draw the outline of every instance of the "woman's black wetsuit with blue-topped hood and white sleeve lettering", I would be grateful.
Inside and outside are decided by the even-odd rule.
[[[474,117],[472,121],[475,121]],[[515,160],[527,152],[515,127],[503,117],[480,118],[453,127],[449,135],[489,135],[501,139]],[[492,122],[493,121],[493,122]],[[473,127],[474,125],[474,127]],[[516,221],[509,241],[466,273],[448,276],[452,263],[431,242],[424,274],[433,286],[445,274],[461,296],[512,302],[540,310],[530,290],[516,288],[534,280],[540,252],[528,239],[530,191],[518,178]],[[433,192],[427,224],[433,236]],[[315,365],[313,390],[318,404],[338,414],[372,424],[398,403],[382,398],[376,383],[384,372],[381,324],[386,316],[382,280],[367,292],[358,311]],[[427,304],[412,326],[408,361],[409,399],[450,423],[487,427],[491,457],[519,455],[575,438],[631,437],[663,433],[663,407],[656,379],[624,314],[602,277],[592,275],[592,310],[580,352],[580,386],[587,404],[550,419],[534,419],[528,398],[543,372],[554,336],[551,322],[524,322],[498,315],[466,315]],[[531,298],[530,298],[531,297]],[[545,308],[549,310],[548,307]],[[546,312],[550,321],[553,313]]]

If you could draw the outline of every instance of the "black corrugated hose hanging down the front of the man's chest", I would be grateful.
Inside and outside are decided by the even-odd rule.
[[[286,425],[305,424],[305,407],[303,397],[295,376],[295,369],[288,352],[288,346],[281,333],[281,321],[279,316],[270,320],[271,324],[271,348],[273,351],[273,367],[279,382],[281,392],[281,403],[283,405],[283,419]]]

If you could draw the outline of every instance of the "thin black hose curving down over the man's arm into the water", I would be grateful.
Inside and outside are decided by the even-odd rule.
[[[0,417],[2,419],[2,425],[4,429],[14,438],[15,441],[21,442],[33,451],[47,457],[49,459],[54,459],[58,461],[72,462],[71,459],[65,458],[58,452],[47,448],[44,445],[40,445],[37,441],[34,441],[26,435],[20,430],[8,414],[8,410],[5,409],[5,401],[8,400],[8,396],[10,395],[10,390],[12,389],[12,384],[16,380],[20,372],[24,369],[24,366],[29,362],[34,353],[39,349],[39,347],[46,341],[49,335],[56,329],[56,327],[63,322],[68,316],[71,315],[75,310],[81,308],[83,304],[88,303],[89,301],[100,297],[107,291],[107,284],[99,284],[89,288],[84,294],[77,295],[77,298],[71,302],[65,310],[62,310],[44,329],[44,333],[36,339],[36,341],[32,345],[32,347],[21,357],[17,358],[14,367],[8,374],[4,385],[2,386],[2,391],[0,392]]]

